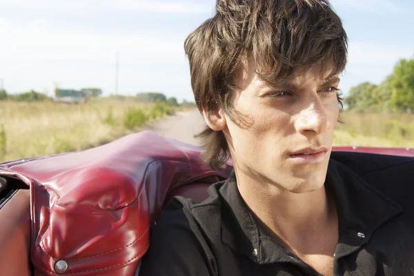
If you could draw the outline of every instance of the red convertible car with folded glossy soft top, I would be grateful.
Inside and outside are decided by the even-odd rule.
[[[414,156],[411,149],[335,151]],[[152,131],[107,145],[0,164],[0,275],[133,276],[157,215],[176,196],[199,202],[233,169]]]

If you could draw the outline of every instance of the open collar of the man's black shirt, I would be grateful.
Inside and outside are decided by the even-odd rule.
[[[343,257],[368,242],[384,222],[402,213],[402,207],[367,184],[344,164],[331,159],[325,184],[333,192],[339,220],[339,242],[335,257]],[[375,184],[375,183],[373,183]],[[234,171],[219,189],[224,206],[221,240],[259,264],[295,262],[290,253],[259,231],[253,215],[237,188]]]

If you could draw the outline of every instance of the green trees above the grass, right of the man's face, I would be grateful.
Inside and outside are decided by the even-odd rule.
[[[380,85],[365,82],[351,87],[344,103],[359,112],[414,112],[414,59],[401,59]]]

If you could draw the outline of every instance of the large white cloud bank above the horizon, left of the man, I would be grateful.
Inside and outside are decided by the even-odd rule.
[[[53,91],[53,83],[114,91],[119,52],[122,93],[153,89],[190,98],[184,37],[157,33],[99,33],[55,26],[47,21],[19,25],[0,19],[0,78],[9,92]],[[185,89],[187,88],[187,89]]]

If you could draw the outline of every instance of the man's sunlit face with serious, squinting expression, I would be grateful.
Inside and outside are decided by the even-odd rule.
[[[255,64],[237,79],[234,107],[246,126],[225,116],[224,134],[237,174],[282,191],[304,193],[322,187],[339,116],[339,78],[312,67],[276,87],[255,74]]]

